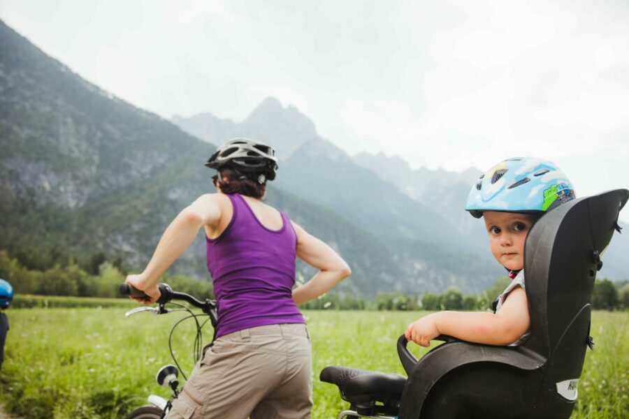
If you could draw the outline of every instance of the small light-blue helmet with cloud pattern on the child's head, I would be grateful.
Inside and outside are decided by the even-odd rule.
[[[574,188],[555,163],[533,157],[501,161],[474,182],[465,210],[547,212],[573,200]]]

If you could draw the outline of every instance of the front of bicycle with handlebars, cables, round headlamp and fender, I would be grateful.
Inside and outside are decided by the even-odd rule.
[[[157,307],[138,307],[136,309],[127,311],[124,314],[124,316],[130,317],[130,316],[133,316],[133,314],[138,314],[144,311],[149,311],[153,314],[168,314],[175,311],[188,311],[189,312],[190,314],[189,316],[180,319],[180,321],[178,321],[177,323],[175,323],[175,325],[173,325],[173,328],[171,329],[170,337],[168,338],[168,348],[170,348],[171,356],[176,366],[165,365],[164,367],[161,367],[161,369],[159,369],[156,376],[157,383],[161,385],[162,387],[169,388],[172,392],[172,395],[170,399],[166,399],[158,395],[150,395],[148,397],[148,402],[150,404],[145,405],[145,406],[140,406],[137,409],[134,409],[133,411],[131,411],[131,413],[129,413],[126,416],[126,419],[162,419],[162,418],[165,418],[166,415],[168,414],[168,411],[171,410],[171,407],[173,406],[173,400],[177,399],[179,395],[179,390],[178,390],[179,381],[177,379],[179,376],[179,372],[181,372],[184,379],[187,379],[184,372],[182,371],[182,368],[177,362],[177,359],[175,358],[175,354],[173,353],[173,348],[171,345],[173,332],[175,331],[175,328],[177,328],[177,326],[180,323],[182,323],[182,321],[185,321],[189,318],[194,318],[194,321],[196,323],[197,334],[196,334],[196,339],[194,341],[195,362],[198,361],[202,355],[201,345],[202,345],[203,335],[202,335],[201,330],[203,326],[209,320],[210,323],[212,324],[212,328],[216,330],[216,325],[217,325],[216,300],[206,299],[205,301],[201,301],[201,300],[196,299],[192,295],[173,291],[171,287],[168,286],[167,284],[158,284],[158,287],[159,287],[159,291],[161,295],[159,299],[157,300]],[[133,288],[133,286],[129,284],[122,284],[120,286],[120,294],[129,295],[131,297],[137,297],[142,300],[149,299],[149,297],[145,293],[143,293],[142,291],[139,291],[136,288]],[[183,304],[178,304],[176,302],[173,302],[173,300],[182,300],[182,301],[188,302],[192,306],[198,309],[201,309],[201,311],[203,311],[203,314],[194,314],[194,312],[191,311],[188,307],[186,307]],[[176,308],[176,309],[166,308],[166,304],[173,304],[173,305],[179,306],[179,308]],[[205,317],[205,316],[208,316],[208,318],[206,318],[205,321],[203,321],[203,323],[199,323],[198,317]]]

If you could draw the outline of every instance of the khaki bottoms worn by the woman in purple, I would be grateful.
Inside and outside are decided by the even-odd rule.
[[[168,419],[310,418],[312,352],[304,324],[240,330],[204,351]]]

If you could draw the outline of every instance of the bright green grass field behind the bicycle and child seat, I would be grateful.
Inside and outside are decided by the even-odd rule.
[[[120,308],[11,309],[0,404],[23,418],[120,418],[145,403],[157,369],[171,363],[168,332],[180,313],[124,318]],[[347,404],[335,386],[319,382],[326,365],[403,374],[396,339],[417,312],[307,311],[313,347],[313,418],[335,418]],[[629,411],[629,313],[595,312],[572,418],[626,418]],[[185,371],[192,366],[192,325],[175,332]],[[206,328],[205,341],[211,339]],[[424,353],[426,349],[416,351]]]

